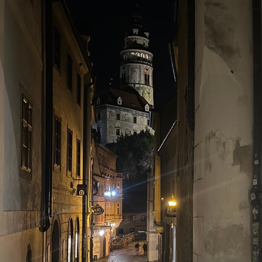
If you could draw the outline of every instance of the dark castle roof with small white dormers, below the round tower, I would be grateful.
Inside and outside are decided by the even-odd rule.
[[[95,94],[95,99],[100,98],[99,105],[115,105],[118,107],[126,107],[133,110],[144,111],[145,106],[149,106],[149,110],[152,109],[152,106],[146,101],[146,99],[140,96],[137,91],[132,88],[132,93],[126,92],[123,90],[118,90],[114,88],[104,89]],[[117,100],[121,97],[121,105],[118,104]]]

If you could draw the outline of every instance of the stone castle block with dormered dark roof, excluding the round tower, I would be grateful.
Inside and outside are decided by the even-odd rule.
[[[97,93],[94,125],[101,134],[101,144],[116,142],[121,134],[138,134],[149,127],[151,105],[138,94],[117,89]]]

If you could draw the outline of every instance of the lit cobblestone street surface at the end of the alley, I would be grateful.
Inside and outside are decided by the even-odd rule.
[[[144,241],[139,242],[139,255],[135,250],[134,245],[137,242],[130,242],[128,246],[122,249],[115,249],[110,252],[109,257],[99,259],[99,262],[146,262],[147,255],[144,255],[143,244]]]

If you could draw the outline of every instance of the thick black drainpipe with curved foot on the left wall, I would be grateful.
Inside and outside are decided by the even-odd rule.
[[[50,227],[52,217],[52,148],[53,148],[53,39],[52,1],[45,1],[45,196],[41,232]]]

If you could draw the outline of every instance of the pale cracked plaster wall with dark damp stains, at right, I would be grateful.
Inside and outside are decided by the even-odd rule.
[[[195,6],[193,261],[251,261],[252,3]]]

